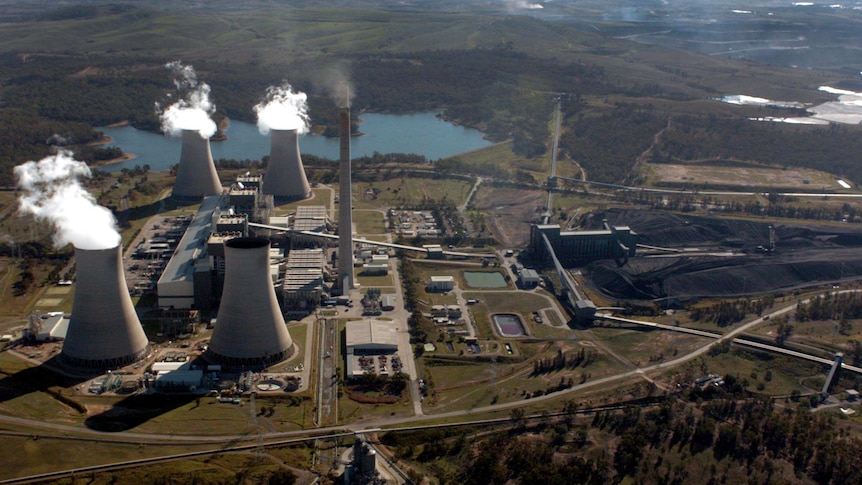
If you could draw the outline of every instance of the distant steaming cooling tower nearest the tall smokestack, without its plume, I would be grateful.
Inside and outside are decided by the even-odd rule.
[[[299,135],[296,130],[270,130],[269,163],[261,191],[274,196],[277,202],[305,199],[311,188],[299,156]]]

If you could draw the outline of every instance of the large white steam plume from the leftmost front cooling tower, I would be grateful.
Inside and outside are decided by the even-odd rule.
[[[54,245],[72,243],[78,249],[110,249],[120,245],[117,220],[110,210],[81,185],[90,177],[90,168],[60,150],[38,162],[15,167],[15,178],[23,195],[18,199],[21,212],[54,226]]]

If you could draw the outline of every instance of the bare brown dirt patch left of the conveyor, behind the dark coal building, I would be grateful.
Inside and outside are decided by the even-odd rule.
[[[482,184],[472,206],[488,214],[491,235],[504,247],[523,247],[530,241],[530,224],[544,212],[545,194],[539,190]]]

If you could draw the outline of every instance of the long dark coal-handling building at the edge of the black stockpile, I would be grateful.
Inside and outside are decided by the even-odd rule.
[[[570,267],[596,259],[625,261],[635,256],[638,235],[628,226],[610,226],[598,231],[563,231],[556,224],[534,224],[530,228],[533,259],[551,262],[542,236],[548,238],[560,263]]]

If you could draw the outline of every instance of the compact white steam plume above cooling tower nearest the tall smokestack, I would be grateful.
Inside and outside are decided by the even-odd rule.
[[[257,129],[262,135],[269,130],[308,131],[308,96],[294,91],[287,82],[266,88],[266,98],[255,105],[254,112],[257,113]]]

